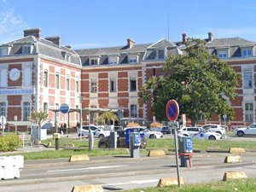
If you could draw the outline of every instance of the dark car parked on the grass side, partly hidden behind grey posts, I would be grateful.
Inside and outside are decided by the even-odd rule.
[[[125,131],[117,131],[117,147],[118,148],[129,148],[129,145],[125,141]],[[141,137],[140,148],[146,148],[147,141],[144,137]],[[102,137],[98,142],[98,148],[110,148],[110,137]]]

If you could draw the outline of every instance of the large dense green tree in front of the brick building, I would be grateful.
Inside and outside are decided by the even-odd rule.
[[[143,102],[153,99],[152,110],[159,120],[167,120],[166,103],[175,99],[180,114],[185,113],[195,125],[201,115],[212,113],[234,117],[230,100],[236,96],[240,80],[232,67],[211,55],[201,39],[189,39],[185,54],[170,56],[163,68],[164,76],[148,79],[143,86]]]

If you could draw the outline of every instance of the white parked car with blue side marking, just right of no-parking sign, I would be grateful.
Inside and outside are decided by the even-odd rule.
[[[193,137],[196,139],[219,140],[222,135],[217,132],[210,132],[201,127],[183,127],[177,131],[178,136]]]

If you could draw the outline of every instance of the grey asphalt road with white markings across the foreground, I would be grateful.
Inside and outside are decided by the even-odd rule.
[[[244,171],[247,177],[256,177],[253,152],[240,154],[243,162],[232,165],[224,163],[226,155],[194,154],[193,167],[181,167],[180,176],[185,183],[219,181],[224,172],[229,171]],[[95,157],[83,162],[67,162],[67,159],[26,160],[20,178],[0,181],[0,189],[4,192],[70,192],[75,185],[102,184],[104,191],[113,191],[156,186],[161,177],[177,177],[174,154],[161,158],[141,155],[137,159],[125,156]]]

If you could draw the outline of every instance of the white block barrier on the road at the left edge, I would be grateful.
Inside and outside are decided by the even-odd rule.
[[[20,171],[24,167],[24,156],[15,155],[0,157],[0,178],[20,178]]]

